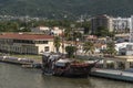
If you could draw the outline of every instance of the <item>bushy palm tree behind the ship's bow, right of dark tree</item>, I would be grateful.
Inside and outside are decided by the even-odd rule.
[[[88,52],[93,53],[93,52],[94,52],[94,44],[93,44],[92,42],[85,42],[85,43],[83,44],[83,51],[85,52],[85,54],[86,54]]]

